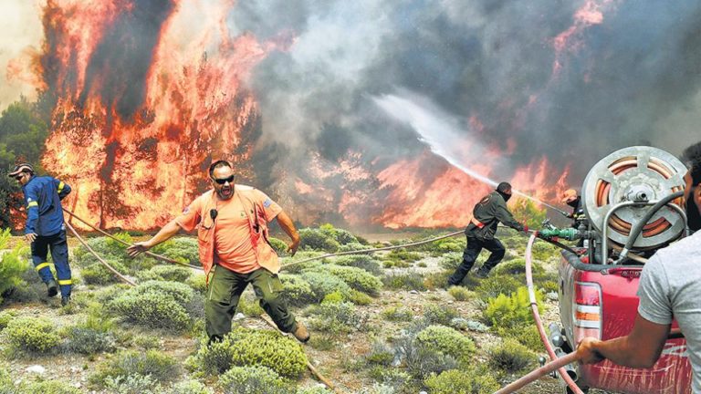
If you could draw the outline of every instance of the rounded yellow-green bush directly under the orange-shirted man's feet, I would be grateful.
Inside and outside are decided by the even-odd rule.
[[[277,332],[235,327],[223,341],[200,347],[187,363],[208,375],[236,366],[262,366],[298,378],[307,368],[307,357],[297,341]]]

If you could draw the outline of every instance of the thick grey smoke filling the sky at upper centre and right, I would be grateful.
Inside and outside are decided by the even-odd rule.
[[[586,3],[601,23],[578,25]],[[349,149],[388,161],[423,150],[376,105],[409,91],[458,119],[466,139],[504,150],[515,141],[502,176],[546,156],[574,161],[576,183],[612,150],[652,144],[677,154],[699,139],[698,20],[701,4],[689,0],[258,0],[239,2],[230,24],[261,40],[295,37],[252,81],[264,142],[292,152],[287,166],[310,150],[329,161]]]

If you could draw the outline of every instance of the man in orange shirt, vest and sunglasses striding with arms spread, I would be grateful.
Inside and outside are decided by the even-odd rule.
[[[231,331],[239,297],[249,283],[260,299],[260,306],[277,327],[307,342],[307,327],[295,320],[280,297],[282,284],[277,277],[280,264],[267,241],[267,223],[277,219],[292,240],[288,247],[294,255],[299,246],[294,223],[265,193],[235,185],[234,171],[228,161],[215,161],[209,167],[209,177],[212,190],[197,197],[152,239],[132,245],[128,253],[136,256],[168,240],[180,229],[197,228],[200,262],[207,275],[204,317],[210,343]]]

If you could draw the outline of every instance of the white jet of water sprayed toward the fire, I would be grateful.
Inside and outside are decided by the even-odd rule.
[[[455,141],[465,140],[466,133],[458,132],[460,127],[450,115],[442,113],[440,109],[428,109],[430,104],[420,105],[417,99],[406,99],[395,95],[385,95],[372,99],[375,104],[392,116],[392,118],[411,126],[419,134],[419,140],[428,145],[434,154],[444,158],[445,161],[448,161],[455,168],[465,172],[477,181],[497,187],[497,181],[470,169],[461,160],[461,158],[472,157],[474,154],[478,154],[480,150],[484,150],[484,147],[478,143],[473,143],[469,146],[455,143]],[[547,202],[542,202],[524,192],[516,189],[512,190],[512,192],[563,213],[560,208]]]

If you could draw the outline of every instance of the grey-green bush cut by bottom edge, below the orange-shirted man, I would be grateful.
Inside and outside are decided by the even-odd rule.
[[[284,378],[266,367],[234,367],[219,378],[225,394],[295,394]]]

